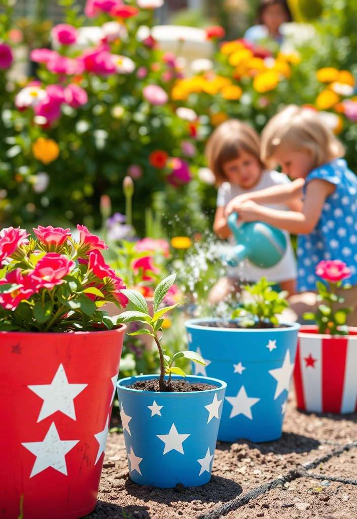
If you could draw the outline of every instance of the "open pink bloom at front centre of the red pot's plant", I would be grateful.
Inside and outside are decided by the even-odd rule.
[[[63,283],[76,266],[75,262],[57,252],[49,252],[41,258],[35,269],[29,274],[36,286],[36,291],[42,288],[52,290],[54,286]]]

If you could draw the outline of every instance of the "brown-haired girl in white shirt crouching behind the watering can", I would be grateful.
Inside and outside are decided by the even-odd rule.
[[[238,195],[251,193],[277,184],[289,183],[286,175],[277,171],[267,171],[260,161],[260,140],[258,134],[247,124],[230,119],[212,133],[207,147],[208,165],[216,177],[218,185],[217,209],[213,230],[218,238],[234,244],[234,237],[224,215],[227,203]],[[272,209],[300,211],[302,202],[291,200],[286,206],[269,205]],[[290,295],[295,293],[296,263],[286,233],[287,248],[281,261],[272,268],[258,268],[248,260],[237,267],[228,267],[227,275],[213,287],[209,301],[217,304],[240,291],[242,283],[253,283],[265,276],[268,281],[279,283],[282,290]]]

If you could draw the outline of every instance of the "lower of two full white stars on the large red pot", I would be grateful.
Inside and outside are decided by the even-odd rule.
[[[48,467],[67,475],[65,455],[73,449],[79,440],[60,440],[60,436],[54,422],[50,425],[42,442],[21,443],[26,449],[36,456],[30,477],[39,474]]]

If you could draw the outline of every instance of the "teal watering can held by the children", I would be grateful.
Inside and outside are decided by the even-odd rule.
[[[263,222],[237,223],[238,214],[228,216],[228,225],[234,234],[237,245],[232,254],[226,255],[224,260],[228,265],[235,267],[244,258],[261,268],[276,265],[286,251],[284,233],[276,227]]]

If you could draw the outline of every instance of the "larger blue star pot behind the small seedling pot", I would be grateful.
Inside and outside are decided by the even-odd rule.
[[[294,371],[299,324],[281,328],[218,328],[186,322],[188,348],[197,351],[206,366],[193,364],[195,375],[225,380],[218,440],[252,442],[277,440],[282,426]]]

